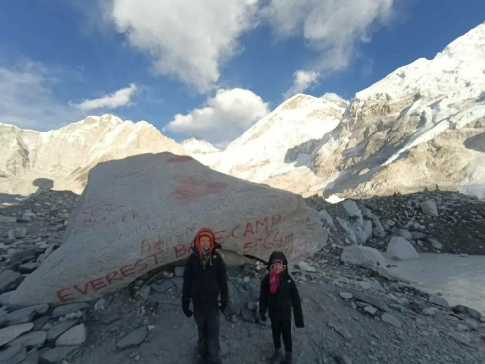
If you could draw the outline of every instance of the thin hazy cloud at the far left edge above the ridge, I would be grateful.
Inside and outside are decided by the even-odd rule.
[[[0,67],[0,122],[33,130],[51,130],[82,118],[82,112],[58,101],[52,86],[58,72],[40,63]]]

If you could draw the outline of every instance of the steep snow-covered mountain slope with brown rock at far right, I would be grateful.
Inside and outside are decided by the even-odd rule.
[[[313,155],[326,193],[368,196],[424,186],[485,195],[485,23],[433,60],[358,92]]]

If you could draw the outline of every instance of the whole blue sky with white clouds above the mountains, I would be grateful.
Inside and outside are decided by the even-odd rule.
[[[0,121],[113,113],[224,145],[285,97],[351,99],[484,20],[479,0],[3,0]]]

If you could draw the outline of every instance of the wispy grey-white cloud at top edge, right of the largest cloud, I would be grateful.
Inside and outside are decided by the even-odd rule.
[[[264,9],[264,17],[282,37],[303,36],[319,53],[310,68],[323,74],[349,65],[356,45],[369,42],[372,31],[388,23],[394,2],[271,0]]]

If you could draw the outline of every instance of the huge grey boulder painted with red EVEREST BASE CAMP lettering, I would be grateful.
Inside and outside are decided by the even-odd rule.
[[[245,182],[170,153],[97,165],[61,247],[6,298],[10,305],[96,298],[190,253],[210,227],[225,249],[298,262],[327,239],[320,215],[289,192]],[[68,274],[66,274],[68,272]]]

